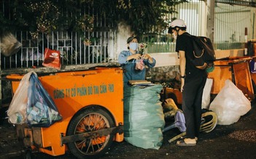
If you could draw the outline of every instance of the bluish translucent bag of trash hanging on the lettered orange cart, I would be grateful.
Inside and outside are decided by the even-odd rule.
[[[49,127],[62,119],[53,99],[42,86],[35,73],[31,73],[26,108],[28,126]]]

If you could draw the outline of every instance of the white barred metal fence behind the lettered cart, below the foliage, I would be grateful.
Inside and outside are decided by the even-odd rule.
[[[54,32],[40,34],[37,39],[31,38],[28,31],[16,33],[22,43],[20,52],[11,57],[1,55],[1,68],[30,68],[42,66],[44,49],[50,48],[61,52],[63,65],[111,62],[115,52],[115,31],[96,31],[87,33],[90,44],[85,44],[77,33]]]

